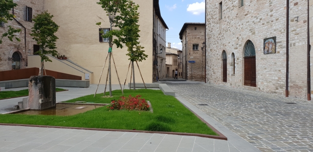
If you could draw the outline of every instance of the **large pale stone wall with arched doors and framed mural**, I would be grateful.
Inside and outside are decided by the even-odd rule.
[[[268,93],[286,89],[286,0],[206,0],[207,82]],[[306,98],[307,2],[290,0],[290,96]],[[294,17],[299,16],[296,22]],[[276,37],[276,53],[264,54],[264,39]],[[256,50],[256,86],[244,86],[244,49],[250,40]],[[223,82],[222,52],[227,54]],[[231,54],[235,55],[235,74]]]

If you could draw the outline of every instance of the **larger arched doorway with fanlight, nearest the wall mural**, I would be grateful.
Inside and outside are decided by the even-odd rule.
[[[245,46],[245,86],[256,87],[256,64],[254,44],[248,40]]]

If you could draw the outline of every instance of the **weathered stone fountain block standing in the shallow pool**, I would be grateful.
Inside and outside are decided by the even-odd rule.
[[[28,83],[28,108],[44,110],[55,107],[55,78],[31,76]]]

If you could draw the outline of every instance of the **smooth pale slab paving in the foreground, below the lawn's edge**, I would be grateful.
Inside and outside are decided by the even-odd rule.
[[[158,133],[0,126],[0,152],[239,152],[226,140]]]

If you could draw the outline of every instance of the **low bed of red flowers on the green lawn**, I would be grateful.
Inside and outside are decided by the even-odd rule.
[[[141,97],[140,95],[136,95],[135,97],[132,97],[132,95],[129,95],[129,97],[122,96],[118,101],[112,100],[111,106],[109,106],[109,109],[127,109],[127,110],[149,110],[149,105],[145,99],[139,99]]]

